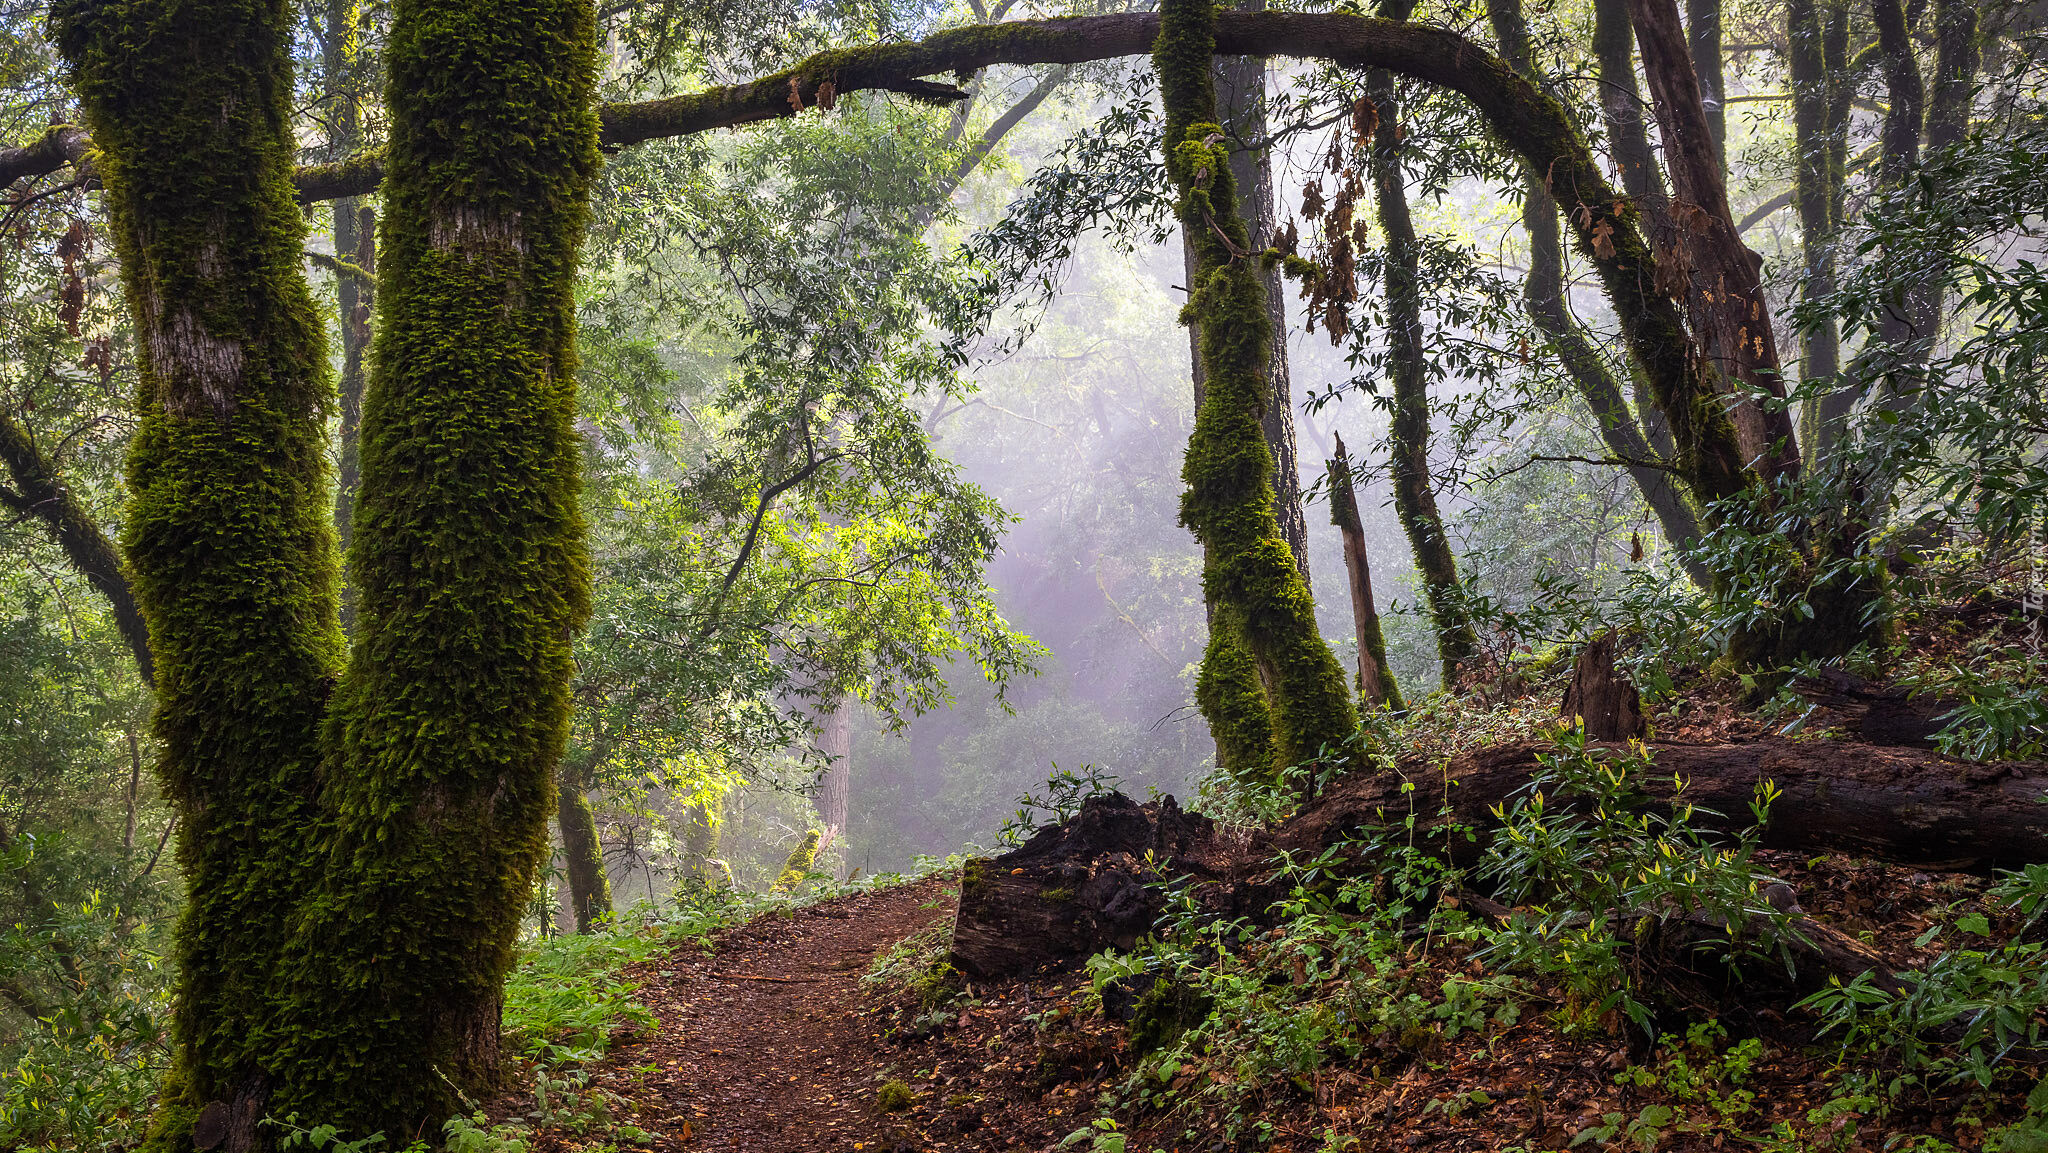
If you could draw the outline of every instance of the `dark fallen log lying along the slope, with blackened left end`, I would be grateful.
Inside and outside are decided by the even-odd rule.
[[[1495,745],[1442,768],[1411,760],[1391,774],[1341,778],[1278,829],[1251,836],[1184,813],[1171,797],[1149,805],[1114,793],[1092,797],[1077,817],[1040,829],[1022,848],[969,862],[952,963],[969,977],[993,979],[1128,948],[1163,907],[1161,879],[1188,877],[1210,911],[1255,917],[1278,897],[1270,883],[1276,852],[1317,856],[1411,811],[1425,823],[1483,834],[1499,823],[1495,807],[1511,807],[1528,788],[1538,754],[1550,748]],[[1683,780],[1679,797],[1694,805],[1700,827],[1749,827],[1749,801],[1772,780],[1782,795],[1759,836],[1765,848],[1978,874],[2048,860],[2048,766],[2040,762],[1968,764],[1892,745],[1792,739],[1665,743],[1653,754],[1647,793],[1669,803],[1673,776]],[[1454,860],[1470,862],[1485,840],[1448,838],[1448,848]],[[1870,963],[1868,950],[1825,926],[1817,926],[1806,958],[1841,977]]]

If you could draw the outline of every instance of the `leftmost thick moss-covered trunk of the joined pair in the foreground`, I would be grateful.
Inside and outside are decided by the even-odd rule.
[[[279,946],[311,866],[340,668],[319,313],[293,195],[291,10],[63,0],[51,31],[100,147],[141,373],[123,549],[190,891],[156,1143],[264,1112]],[[231,1106],[231,1108],[229,1108]]]

